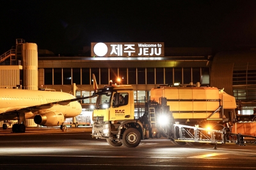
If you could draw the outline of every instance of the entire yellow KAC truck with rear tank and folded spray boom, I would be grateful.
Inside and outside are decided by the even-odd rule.
[[[218,143],[243,144],[245,135],[232,134],[230,128],[236,116],[232,112],[236,109],[234,97],[216,88],[159,89],[150,91],[154,100],[148,101],[134,100],[130,85],[109,84],[97,89],[92,137],[129,148],[143,139],[161,136],[175,144],[210,143],[215,148]],[[125,102],[120,104],[123,97]],[[207,123],[215,130],[202,127]]]

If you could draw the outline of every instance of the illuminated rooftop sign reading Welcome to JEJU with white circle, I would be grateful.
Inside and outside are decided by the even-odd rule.
[[[91,56],[157,57],[164,56],[163,42],[91,43]]]

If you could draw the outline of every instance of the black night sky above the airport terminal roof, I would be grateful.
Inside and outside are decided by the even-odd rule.
[[[256,1],[0,1],[0,54],[16,38],[55,54],[91,42],[165,47],[256,47]]]

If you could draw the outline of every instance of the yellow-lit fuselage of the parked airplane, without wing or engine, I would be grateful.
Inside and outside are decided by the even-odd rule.
[[[73,95],[58,91],[0,88],[0,120],[6,120],[3,118],[3,114],[10,114],[17,110],[24,112],[25,118],[33,118],[36,114],[44,114],[49,111],[58,111],[63,114],[64,118],[72,118],[82,111],[81,104],[77,101],[67,105],[52,104],[72,98],[74,98]]]

